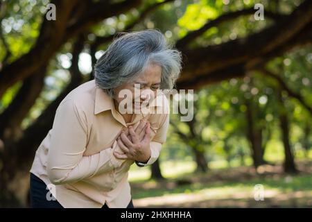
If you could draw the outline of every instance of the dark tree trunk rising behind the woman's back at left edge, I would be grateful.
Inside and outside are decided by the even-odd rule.
[[[83,83],[78,69],[78,55],[83,49],[83,39],[76,42],[73,50],[71,81],[60,95],[50,103],[44,112],[31,126],[23,132],[18,141],[6,141],[3,153],[0,153],[0,203],[3,207],[25,207],[29,185],[29,169],[37,147],[42,142],[53,125],[55,111],[58,105],[71,90]],[[31,90],[31,87],[27,87]],[[35,137],[34,137],[35,135]],[[22,182],[22,183],[21,183]]]

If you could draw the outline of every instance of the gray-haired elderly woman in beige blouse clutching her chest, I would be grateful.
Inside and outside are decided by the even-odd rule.
[[[159,157],[169,124],[160,89],[172,89],[180,64],[180,52],[159,31],[114,40],[95,79],[56,110],[31,168],[32,207],[133,207],[128,171]]]

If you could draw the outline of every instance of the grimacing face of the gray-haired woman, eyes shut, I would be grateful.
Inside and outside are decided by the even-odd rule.
[[[150,103],[156,97],[161,78],[162,67],[155,63],[150,63],[146,70],[135,80],[130,83],[124,83],[114,89],[116,103],[119,104],[126,99],[128,104],[132,104],[132,109],[139,109],[142,103]],[[121,96],[119,96],[119,92],[121,92]],[[126,97],[124,96],[125,93],[127,94]]]

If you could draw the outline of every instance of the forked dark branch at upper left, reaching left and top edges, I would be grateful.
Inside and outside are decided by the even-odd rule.
[[[10,65],[6,65],[0,71],[0,98],[8,87],[19,80],[27,78],[39,69],[41,65],[48,63],[54,53],[70,37],[78,35],[78,33],[83,33],[85,29],[96,24],[96,22],[100,22],[101,19],[118,15],[141,3],[141,0],[128,0],[107,5],[108,1],[98,1],[92,3],[91,6],[90,4],[87,5],[88,8],[85,9],[87,14],[83,13],[81,15],[82,17],[75,17],[77,20],[75,24],[68,24],[69,21],[73,22],[75,20],[69,18],[69,15],[72,15],[73,8],[76,6],[83,7],[77,5],[77,1],[54,0],[52,2],[58,8],[58,19],[47,21],[44,15],[44,22],[40,28],[40,36],[37,38],[33,49]],[[103,8],[103,6],[107,7]]]

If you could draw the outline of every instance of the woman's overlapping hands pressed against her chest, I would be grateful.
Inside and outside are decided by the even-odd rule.
[[[121,133],[117,143],[123,153],[114,152],[114,156],[119,159],[130,159],[137,162],[148,162],[150,159],[150,123],[146,123],[145,135],[143,139],[135,133],[132,126],[129,127],[131,140]]]

